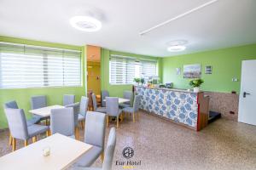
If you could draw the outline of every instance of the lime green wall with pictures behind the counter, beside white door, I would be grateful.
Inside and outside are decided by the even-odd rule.
[[[189,88],[189,79],[183,78],[183,65],[201,64],[201,78],[205,81],[202,90],[239,93],[241,61],[245,59],[256,59],[256,44],[163,58],[163,82],[173,82],[174,88]],[[212,65],[212,74],[205,74],[206,65]],[[181,75],[176,75],[178,67]],[[232,77],[237,77],[238,82],[232,82]]]

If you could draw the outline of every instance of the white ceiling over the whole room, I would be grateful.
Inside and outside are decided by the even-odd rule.
[[[256,42],[256,0],[218,0],[167,26],[139,32],[210,0],[0,0],[0,35],[73,45],[91,44],[151,56],[190,54]],[[84,32],[69,25],[76,14],[95,14],[102,30]],[[167,42],[187,40],[179,53]]]

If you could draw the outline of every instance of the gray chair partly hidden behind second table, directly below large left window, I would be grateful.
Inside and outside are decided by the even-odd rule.
[[[46,99],[45,95],[32,96],[30,102],[31,102],[31,109],[32,110],[39,109],[39,108],[47,106],[47,99]],[[47,121],[49,119],[49,116],[38,116],[38,115],[33,115],[33,116],[40,118],[40,121],[45,120],[45,124],[46,125],[48,124]]]

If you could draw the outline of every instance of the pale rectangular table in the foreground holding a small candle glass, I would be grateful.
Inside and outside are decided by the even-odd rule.
[[[50,155],[44,156],[43,150],[48,146]],[[38,140],[36,143],[0,157],[0,169],[65,169],[91,148],[90,144],[55,133],[48,138]]]

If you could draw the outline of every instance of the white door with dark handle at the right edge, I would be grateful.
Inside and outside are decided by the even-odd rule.
[[[241,63],[238,122],[256,125],[256,59]]]

